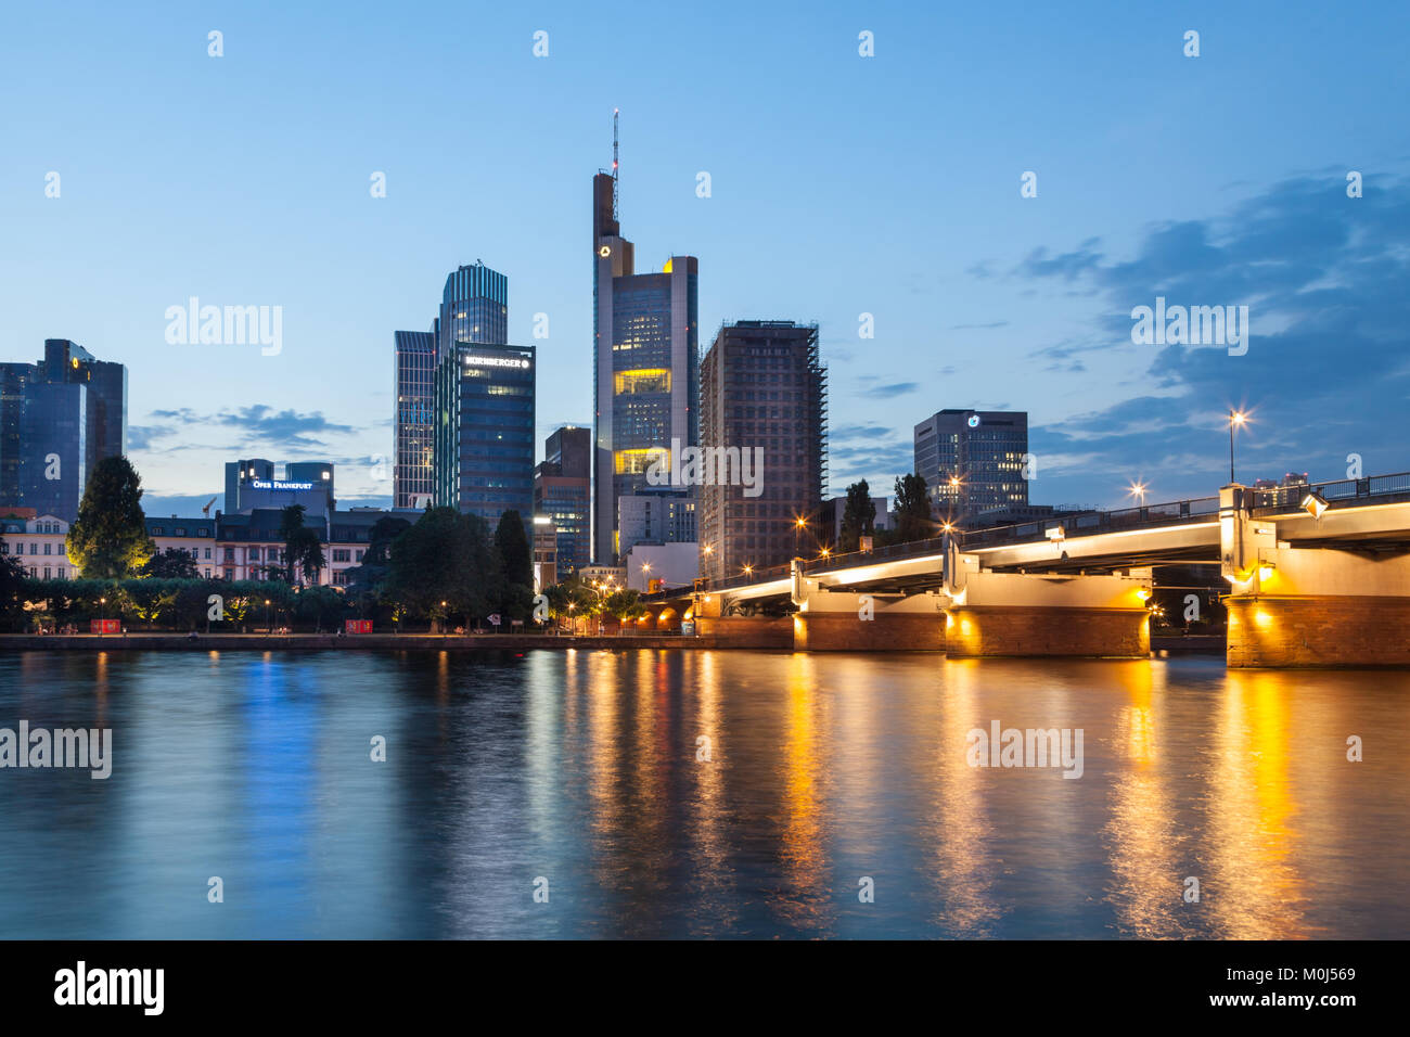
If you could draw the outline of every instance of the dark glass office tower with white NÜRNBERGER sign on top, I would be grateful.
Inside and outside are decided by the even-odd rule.
[[[436,371],[436,504],[533,518],[534,347],[455,343]]]

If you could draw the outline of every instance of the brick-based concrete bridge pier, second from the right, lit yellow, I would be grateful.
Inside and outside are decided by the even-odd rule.
[[[950,554],[945,650],[966,656],[1145,657],[1151,570],[1127,576],[987,573]]]

